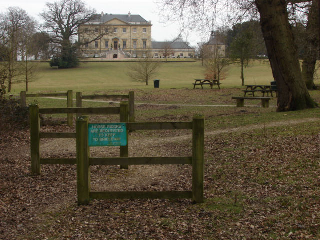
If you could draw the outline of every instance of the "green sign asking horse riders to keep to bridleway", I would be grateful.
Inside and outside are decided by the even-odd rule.
[[[126,146],[125,123],[89,123],[89,146]]]

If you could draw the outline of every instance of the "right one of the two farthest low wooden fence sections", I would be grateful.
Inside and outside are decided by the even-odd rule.
[[[134,122],[134,91],[129,91],[127,95],[82,95],[82,92],[76,93],[76,107],[82,107],[82,99],[128,99],[129,102],[129,122]],[[79,117],[80,114],[77,114]]]

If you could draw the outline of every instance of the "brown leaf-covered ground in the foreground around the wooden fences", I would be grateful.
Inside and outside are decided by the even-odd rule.
[[[42,165],[40,176],[30,176],[28,129],[1,125],[0,239],[320,239],[320,118],[250,126],[206,131],[203,204],[114,199],[78,206],[76,166]],[[186,137],[130,134],[130,156],[191,154],[187,131]],[[117,156],[118,148],[92,148],[91,155]],[[41,140],[41,156],[75,157],[75,142]],[[92,190],[190,190],[191,169],[92,166],[91,184]]]

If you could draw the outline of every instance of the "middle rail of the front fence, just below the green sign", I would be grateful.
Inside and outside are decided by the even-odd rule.
[[[90,157],[89,165],[173,165],[192,164],[192,156],[171,157]]]

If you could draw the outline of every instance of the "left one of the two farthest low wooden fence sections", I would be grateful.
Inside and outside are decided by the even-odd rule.
[[[22,107],[26,107],[26,98],[27,97],[57,97],[57,96],[66,96],[67,97],[67,107],[72,107],[72,90],[68,90],[66,93],[26,93],[26,91],[20,92],[20,102]],[[73,125],[73,115],[67,113],[67,123],[68,126]]]

